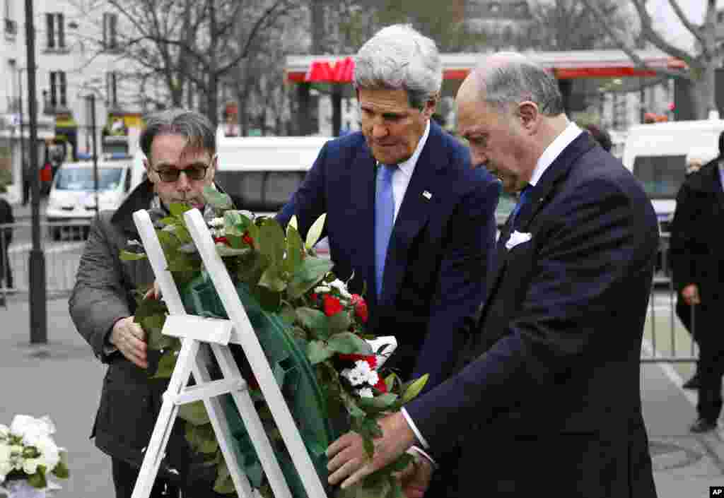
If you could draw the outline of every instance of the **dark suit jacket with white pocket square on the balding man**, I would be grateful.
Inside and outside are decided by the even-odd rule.
[[[639,355],[658,245],[639,183],[582,133],[505,227],[468,363],[408,403],[449,496],[654,497]]]

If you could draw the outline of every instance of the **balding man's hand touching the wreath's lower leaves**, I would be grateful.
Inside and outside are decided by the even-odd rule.
[[[379,421],[379,425],[382,428],[382,436],[374,439],[372,460],[364,450],[362,436],[354,432],[348,432],[329,445],[327,448],[329,484],[342,482],[342,488],[352,486],[375,470],[392,463],[414,444],[415,433],[408,426],[402,413],[387,415]]]

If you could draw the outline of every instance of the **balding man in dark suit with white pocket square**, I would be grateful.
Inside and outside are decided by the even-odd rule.
[[[371,461],[356,434],[330,445],[329,481],[349,486],[417,441],[443,468],[459,452],[448,497],[655,497],[639,391],[651,203],[520,54],[484,59],[457,106],[473,161],[521,192],[477,332],[455,376],[382,420]],[[417,466],[418,491],[429,472]]]

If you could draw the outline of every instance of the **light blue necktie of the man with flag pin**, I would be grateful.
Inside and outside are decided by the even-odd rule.
[[[397,165],[380,164],[377,167],[377,185],[374,195],[374,266],[376,272],[377,299],[382,295],[382,275],[387,245],[395,224],[395,198],[392,196],[392,174]]]

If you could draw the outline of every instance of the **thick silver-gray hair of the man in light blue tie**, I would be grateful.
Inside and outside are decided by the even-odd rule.
[[[355,56],[354,85],[365,90],[406,90],[410,106],[422,110],[442,86],[437,46],[411,25],[382,28]]]

